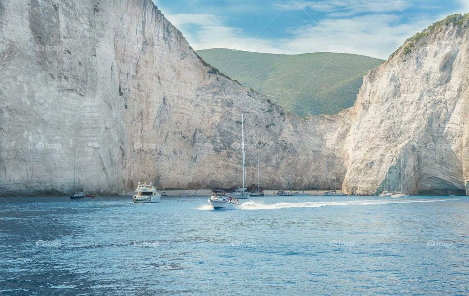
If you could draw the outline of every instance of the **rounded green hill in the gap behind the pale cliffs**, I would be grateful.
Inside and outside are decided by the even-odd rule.
[[[197,54],[241,85],[301,116],[336,114],[353,106],[363,75],[384,62],[329,52],[277,55],[215,48]]]

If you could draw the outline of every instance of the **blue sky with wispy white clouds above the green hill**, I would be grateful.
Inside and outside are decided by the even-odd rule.
[[[195,50],[332,51],[382,59],[435,21],[469,12],[469,0],[153,1]]]

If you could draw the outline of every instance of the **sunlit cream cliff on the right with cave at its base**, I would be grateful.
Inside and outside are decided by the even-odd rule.
[[[351,110],[343,183],[349,192],[461,193],[468,182],[469,34],[450,17],[409,39],[364,77]],[[467,185],[466,185],[467,187]]]

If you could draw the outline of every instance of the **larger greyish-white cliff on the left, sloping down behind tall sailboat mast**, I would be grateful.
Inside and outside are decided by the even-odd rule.
[[[241,185],[330,188],[333,117],[305,121],[216,73],[150,0],[0,7],[0,190],[101,194]],[[333,147],[331,149],[329,147]]]

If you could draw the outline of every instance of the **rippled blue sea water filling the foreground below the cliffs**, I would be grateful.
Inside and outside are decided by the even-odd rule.
[[[469,295],[467,197],[0,202],[1,295]]]

